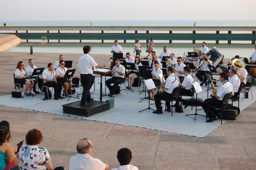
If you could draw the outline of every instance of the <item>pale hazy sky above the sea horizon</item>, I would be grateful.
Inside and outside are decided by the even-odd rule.
[[[255,20],[256,0],[1,0],[0,20]]]

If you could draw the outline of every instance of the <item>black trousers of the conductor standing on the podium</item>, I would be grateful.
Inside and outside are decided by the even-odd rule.
[[[83,94],[82,94],[82,99],[81,103],[84,104],[86,101],[89,101],[88,99],[90,98],[90,88],[91,88],[91,80],[92,80],[92,75],[91,74],[80,74],[81,78],[81,84],[83,86]]]

